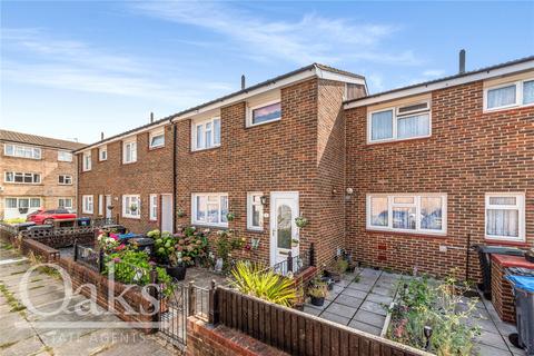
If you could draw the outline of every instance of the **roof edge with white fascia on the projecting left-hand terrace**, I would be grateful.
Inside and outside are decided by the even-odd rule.
[[[108,138],[106,138],[106,139],[103,139],[103,140],[100,140],[100,141],[97,141],[97,142],[90,144],[90,145],[87,145],[87,146],[85,146],[85,147],[82,147],[82,148],[83,148],[83,149],[89,149],[89,148],[91,148],[91,147],[99,146],[99,145],[102,145],[102,144],[105,144],[105,142],[112,141],[112,140],[118,139],[118,138],[120,138],[120,137],[128,136],[128,135],[134,134],[134,132],[137,132],[137,131],[142,131],[142,130],[145,130],[145,129],[159,126],[159,125],[161,125],[161,123],[165,123],[166,121],[168,121],[168,122],[170,123],[170,121],[171,121],[174,118],[176,118],[176,117],[184,116],[184,115],[188,115],[188,113],[195,113],[197,110],[204,109],[204,108],[209,107],[209,106],[211,106],[211,105],[222,103],[224,101],[226,101],[226,100],[228,100],[228,99],[230,99],[230,98],[235,98],[235,97],[238,97],[238,96],[240,96],[240,95],[249,93],[249,92],[251,92],[251,91],[255,90],[255,89],[259,89],[259,88],[261,88],[261,87],[266,87],[266,86],[276,83],[276,82],[278,82],[278,81],[280,81],[280,80],[283,80],[283,79],[286,79],[286,78],[289,78],[289,77],[293,77],[293,76],[296,76],[296,75],[299,75],[299,73],[303,73],[303,72],[306,72],[306,71],[315,70],[315,69],[319,69],[319,70],[323,70],[323,71],[328,71],[328,72],[332,72],[332,73],[335,73],[335,75],[339,75],[339,76],[352,77],[352,78],[355,78],[355,79],[364,80],[364,81],[365,81],[365,77],[363,77],[363,76],[359,76],[359,75],[356,75],[356,73],[352,73],[352,72],[348,72],[348,71],[345,71],[345,70],[336,69],[336,68],[333,68],[333,67],[329,67],[329,66],[320,65],[320,63],[312,63],[312,65],[309,65],[309,66],[306,66],[306,67],[303,67],[303,68],[293,70],[293,71],[287,72],[287,73],[285,73],[285,75],[281,75],[281,76],[278,76],[278,77],[275,77],[275,78],[271,78],[271,79],[267,79],[267,80],[261,81],[261,82],[259,82],[259,83],[257,83],[257,85],[254,85],[254,86],[250,86],[250,87],[246,87],[245,89],[240,89],[240,90],[238,90],[238,91],[235,91],[235,92],[228,93],[228,95],[226,95],[226,96],[219,97],[219,98],[217,98],[217,99],[214,99],[214,100],[210,100],[210,101],[200,103],[200,105],[198,105],[198,106],[195,106],[195,107],[191,107],[191,108],[181,110],[181,111],[179,111],[179,112],[172,113],[172,115],[170,115],[170,116],[167,116],[167,117],[161,118],[161,119],[159,119],[159,120],[156,120],[156,121],[154,121],[154,122],[146,123],[146,125],[142,125],[142,126],[132,128],[132,129],[130,129],[130,130],[123,131],[123,132],[118,134],[118,135],[113,135],[113,136],[108,137]],[[83,149],[78,149],[78,152],[79,152],[79,151],[82,151]]]

